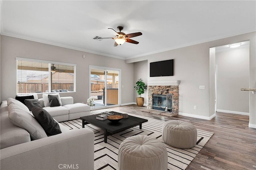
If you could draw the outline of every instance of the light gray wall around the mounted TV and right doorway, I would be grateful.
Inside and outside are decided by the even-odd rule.
[[[196,116],[211,117],[214,115],[214,68],[210,62],[210,47],[217,47],[250,40],[250,88],[256,88],[256,32],[246,33],[180,49],[165,51],[143,57],[126,60],[126,63],[148,60],[148,80],[180,80],[179,112]],[[149,63],[174,59],[174,76],[149,77]],[[140,72],[134,73],[140,76]],[[212,80],[213,79],[213,80]],[[205,90],[199,86],[205,85]],[[249,92],[244,92],[249,93]],[[197,106],[194,110],[193,106]],[[256,127],[256,95],[250,92],[250,124]]]

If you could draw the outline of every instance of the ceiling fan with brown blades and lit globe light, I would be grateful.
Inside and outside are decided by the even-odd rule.
[[[113,28],[108,28],[108,29],[114,30]],[[133,43],[133,44],[138,44],[139,43],[138,41],[134,41],[134,40],[132,40],[130,38],[142,35],[141,32],[125,34],[125,33],[121,32],[124,29],[124,27],[118,26],[117,29],[119,30],[119,32],[116,32],[114,30],[117,33],[117,35],[115,37],[111,38],[111,39],[115,40],[114,47],[116,47],[118,45],[122,45],[124,42]],[[106,38],[99,37],[98,39],[106,39]]]

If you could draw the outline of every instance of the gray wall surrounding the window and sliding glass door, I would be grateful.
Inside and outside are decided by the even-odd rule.
[[[82,56],[86,58],[83,59]],[[77,64],[76,92],[60,93],[60,96],[72,96],[74,102],[87,102],[89,97],[89,65],[120,68],[122,74],[122,104],[134,101],[134,64],[126,64],[124,60],[66,49],[1,35],[1,100],[16,95],[16,59],[15,57],[56,61]],[[39,95],[42,97],[42,94]]]

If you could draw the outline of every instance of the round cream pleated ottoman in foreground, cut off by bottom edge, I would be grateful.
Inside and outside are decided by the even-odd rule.
[[[167,165],[166,147],[154,137],[136,135],[120,144],[119,170],[167,170]]]

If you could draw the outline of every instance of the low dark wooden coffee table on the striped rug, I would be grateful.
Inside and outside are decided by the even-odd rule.
[[[114,113],[115,115],[121,115],[121,113],[118,113],[116,111],[109,111],[110,113]],[[140,125],[140,129],[142,129],[142,123],[147,122],[147,119],[142,119],[140,117],[130,116],[128,119],[122,119],[118,121],[117,123],[112,123],[108,119],[106,120],[98,120],[96,117],[100,114],[96,115],[89,115],[80,117],[82,120],[82,127],[84,128],[84,125],[86,124],[92,124],[94,126],[99,127],[100,129],[104,130],[104,142],[107,143],[107,137],[109,135],[113,135],[115,133],[122,132],[126,129],[129,129],[134,126]]]

